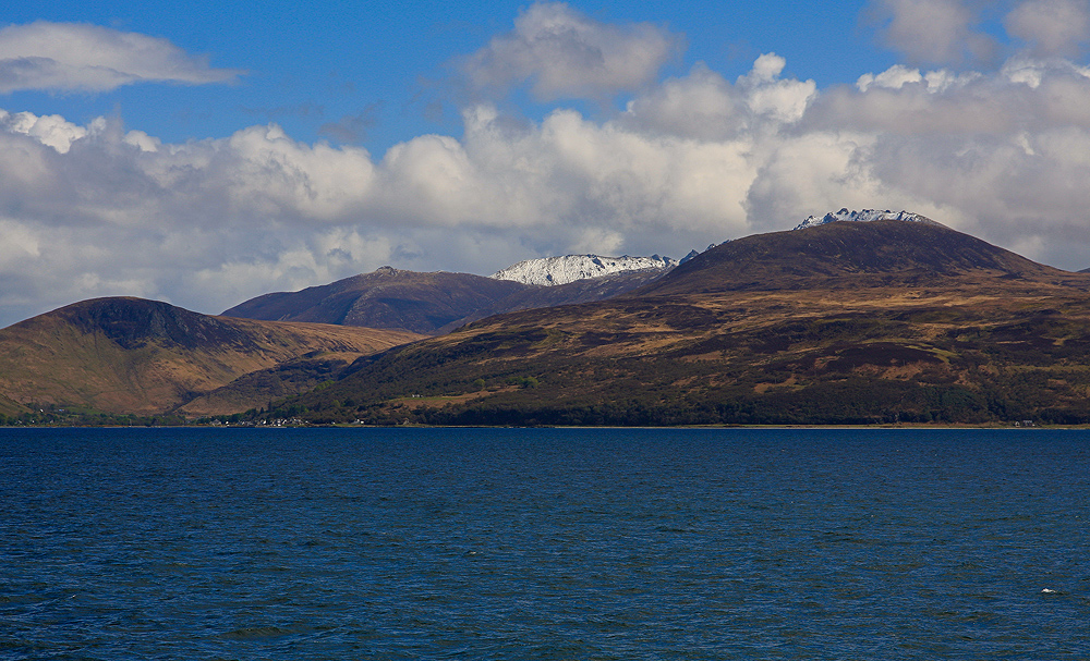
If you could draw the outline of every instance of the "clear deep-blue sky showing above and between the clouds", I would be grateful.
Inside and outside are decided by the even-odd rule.
[[[303,140],[352,142],[382,154],[422,133],[461,130],[451,66],[509,30],[524,1],[374,2],[15,2],[5,24],[76,22],[168,39],[239,70],[232,85],[126,85],[109,93],[24,90],[10,109],[61,114],[76,123],[120,114],[125,125],[168,142],[223,137],[277,122]],[[853,83],[861,69],[883,70],[895,56],[877,47],[862,2],[586,2],[573,7],[606,23],[650,22],[682,36],[663,74],[698,61],[728,77],[763,52],[787,59],[789,74],[820,85]],[[823,45],[822,42],[826,45]],[[519,95],[514,95],[519,97]],[[520,110],[550,106],[522,95]],[[568,99],[569,101],[576,99]],[[610,99],[619,102],[622,99]],[[582,109],[595,112],[593,103]],[[441,109],[441,111],[440,111]],[[346,118],[340,132],[331,128]],[[353,123],[353,118],[361,122]],[[351,135],[355,133],[356,135]],[[354,139],[353,139],[354,138]]]

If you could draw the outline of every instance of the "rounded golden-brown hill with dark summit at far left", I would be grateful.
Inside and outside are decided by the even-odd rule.
[[[0,399],[117,414],[232,413],[317,380],[250,388],[223,406],[195,400],[240,377],[281,366],[320,375],[420,339],[405,332],[251,321],[199,315],[141,298],[97,298],[0,330]],[[326,370],[330,371],[329,369]]]

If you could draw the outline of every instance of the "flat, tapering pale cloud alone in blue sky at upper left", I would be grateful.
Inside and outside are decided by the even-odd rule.
[[[106,91],[141,82],[227,83],[242,72],[214,69],[166,39],[97,25],[49,23],[0,29],[0,93]]]

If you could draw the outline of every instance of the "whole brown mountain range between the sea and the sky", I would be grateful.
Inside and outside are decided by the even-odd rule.
[[[384,268],[220,317],[83,302],[0,331],[0,415],[1090,423],[1090,274],[889,213],[565,284]]]

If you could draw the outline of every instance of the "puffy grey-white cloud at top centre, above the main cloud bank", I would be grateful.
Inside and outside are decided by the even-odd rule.
[[[650,83],[678,47],[677,36],[649,23],[608,25],[565,3],[540,2],[460,69],[476,89],[531,81],[542,100],[601,99]]]

